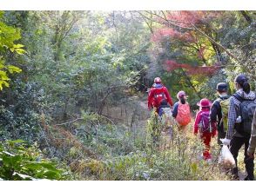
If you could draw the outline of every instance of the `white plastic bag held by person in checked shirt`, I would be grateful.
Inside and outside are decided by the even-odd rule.
[[[229,148],[226,145],[223,145],[221,148],[219,156],[219,164],[225,168],[235,168],[236,162],[230,152]]]

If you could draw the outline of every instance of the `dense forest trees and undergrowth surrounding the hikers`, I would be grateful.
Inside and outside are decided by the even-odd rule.
[[[160,76],[196,110],[199,99],[216,98],[218,82],[232,93],[239,73],[255,89],[255,16],[1,11],[1,178],[228,180],[216,163],[197,161],[193,136],[163,136],[153,147],[146,90]]]

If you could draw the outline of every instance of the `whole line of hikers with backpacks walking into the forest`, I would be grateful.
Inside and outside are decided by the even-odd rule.
[[[248,78],[245,75],[235,77],[235,94],[228,95],[226,82],[219,82],[216,87],[218,98],[211,102],[204,98],[197,105],[199,112],[193,125],[193,134],[198,135],[205,144],[202,158],[211,161],[210,143],[212,137],[218,135],[220,147],[226,145],[235,160],[236,167],[232,168],[232,175],[239,180],[237,158],[239,149],[244,145],[244,162],[246,164],[246,181],[253,181],[254,151],[256,147],[256,95],[251,90]],[[179,91],[178,102],[173,104],[172,97],[165,88],[161,79],[156,77],[148,94],[148,108],[156,109],[159,116],[165,108],[172,109],[172,117],[179,124],[179,130],[186,131],[192,115],[187,102],[187,95]]]

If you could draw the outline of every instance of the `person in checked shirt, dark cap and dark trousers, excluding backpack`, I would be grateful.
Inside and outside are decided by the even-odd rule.
[[[245,158],[244,161],[246,163],[246,178],[245,181],[253,181],[254,175],[254,163],[253,157],[247,155],[247,149],[249,146],[249,140],[251,135],[247,135],[239,132],[237,127],[239,123],[241,123],[241,116],[239,115],[240,104],[244,100],[253,101],[256,99],[256,95],[253,91],[251,91],[250,84],[248,83],[248,78],[245,75],[236,76],[234,80],[236,93],[230,98],[230,107],[228,112],[228,129],[226,132],[226,138],[221,140],[223,144],[230,145],[230,152],[232,153],[234,160],[237,165],[237,157],[239,155],[239,149],[245,145]],[[234,179],[239,179],[238,167],[232,168],[232,175]]]

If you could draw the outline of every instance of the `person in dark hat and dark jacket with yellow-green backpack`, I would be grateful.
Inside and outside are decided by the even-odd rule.
[[[222,110],[221,103],[227,101],[229,104],[229,95],[227,94],[227,84],[226,82],[219,82],[216,87],[218,98],[212,103],[211,112],[210,112],[210,123],[214,128],[218,130],[218,143],[221,145],[220,139],[226,137],[226,128],[224,128],[224,115],[226,113]],[[228,105],[226,106],[228,110]],[[226,115],[227,117],[227,115]],[[217,123],[217,124],[216,124]],[[227,126],[227,124],[225,124]]]

